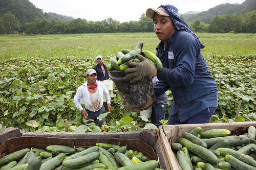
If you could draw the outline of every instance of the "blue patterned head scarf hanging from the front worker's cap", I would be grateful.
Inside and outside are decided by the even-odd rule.
[[[188,25],[186,24],[186,22],[184,22],[180,17],[179,17],[179,13],[178,13],[178,9],[175,8],[172,5],[161,5],[158,8],[163,8],[170,16],[170,18],[173,20],[173,23],[176,27],[176,29],[178,31],[186,31],[189,34],[193,35],[196,40],[199,41],[200,43],[200,47],[204,48],[204,44],[200,41],[200,39],[196,36],[196,34],[188,27]]]

